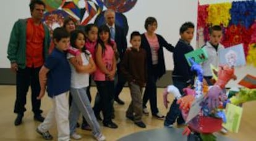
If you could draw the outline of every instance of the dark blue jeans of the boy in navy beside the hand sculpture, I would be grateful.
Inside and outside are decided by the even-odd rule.
[[[173,79],[173,85],[179,89],[179,92],[181,92],[181,95],[184,94],[182,89],[188,86],[186,82],[183,81],[177,81]],[[177,104],[177,99],[173,100],[173,103],[171,104],[171,107],[169,109],[169,112],[166,115],[164,125],[168,126],[170,124],[174,124],[177,119],[177,124],[184,124],[185,121],[182,118],[181,110],[179,110],[179,104]]]

